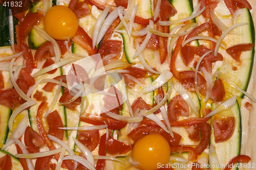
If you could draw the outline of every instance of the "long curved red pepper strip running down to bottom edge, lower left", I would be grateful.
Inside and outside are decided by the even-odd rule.
[[[37,110],[37,114],[36,114],[36,124],[37,124],[38,131],[39,131],[42,139],[46,142],[48,148],[50,150],[55,150],[56,148],[55,148],[53,142],[48,138],[47,132],[46,132],[46,130],[44,128],[44,125],[42,125],[42,115],[44,113],[46,113],[47,110],[48,110],[47,104],[48,103],[43,102],[43,103],[41,103],[39,105],[38,110]],[[54,157],[55,157],[56,160],[58,160],[59,159],[59,154],[55,154]],[[63,161],[63,163],[64,164],[62,164],[61,167],[68,168],[70,170],[74,169],[73,162],[71,162],[71,161]]]

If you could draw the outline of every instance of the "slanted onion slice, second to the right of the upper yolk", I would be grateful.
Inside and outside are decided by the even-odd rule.
[[[112,25],[112,23],[116,20],[116,18],[118,17],[118,11],[117,10],[123,10],[124,8],[122,6],[117,7],[115,10],[113,10],[104,20],[104,22],[102,23],[102,26],[100,28],[98,37],[97,37],[97,41],[96,44],[98,44],[100,42],[100,40],[103,38],[103,36],[105,35],[106,31],[108,31],[108,29],[110,28],[110,26]]]

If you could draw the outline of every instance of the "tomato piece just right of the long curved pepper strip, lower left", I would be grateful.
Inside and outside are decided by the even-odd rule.
[[[62,124],[61,117],[60,117],[59,113],[57,112],[57,110],[54,110],[47,116],[47,123],[49,126],[48,134],[53,135],[53,136],[59,138],[60,140],[62,140],[64,130],[59,129],[59,128],[63,128],[63,124]]]

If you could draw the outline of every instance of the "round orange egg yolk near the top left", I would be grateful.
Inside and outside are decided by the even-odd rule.
[[[45,15],[46,32],[55,39],[69,40],[78,29],[76,14],[66,6],[53,6]]]

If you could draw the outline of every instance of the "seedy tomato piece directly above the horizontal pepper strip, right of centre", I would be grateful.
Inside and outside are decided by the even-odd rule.
[[[176,95],[170,100],[167,108],[169,121],[175,121],[178,116],[189,116],[189,108],[187,103],[182,99],[181,95]]]

